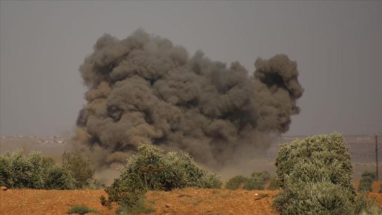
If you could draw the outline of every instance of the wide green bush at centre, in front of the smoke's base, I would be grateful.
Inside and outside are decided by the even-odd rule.
[[[134,208],[148,190],[171,191],[182,187],[220,188],[222,181],[215,174],[202,170],[187,153],[169,152],[144,143],[127,159],[122,174],[106,187],[106,199],[101,204],[120,208]]]

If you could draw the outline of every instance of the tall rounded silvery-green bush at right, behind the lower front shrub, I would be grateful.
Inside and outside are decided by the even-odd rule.
[[[344,143],[344,137],[334,132],[331,135],[319,135],[308,137],[304,140],[294,140],[291,143],[282,144],[276,157],[277,183],[280,187],[285,185],[285,177],[295,170],[297,164],[318,162],[323,166],[338,163],[343,177],[334,177],[334,183],[347,184],[350,188],[352,166],[348,147]],[[336,181],[340,180],[340,181]],[[351,188],[354,190],[353,188]]]

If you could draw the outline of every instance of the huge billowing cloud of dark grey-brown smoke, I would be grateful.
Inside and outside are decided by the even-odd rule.
[[[73,143],[99,165],[123,162],[142,141],[209,165],[241,145],[262,150],[264,135],[289,129],[303,89],[286,55],[258,58],[255,67],[249,75],[239,62],[227,67],[201,51],[189,57],[143,30],[123,40],[106,34],[79,68],[88,103]]]

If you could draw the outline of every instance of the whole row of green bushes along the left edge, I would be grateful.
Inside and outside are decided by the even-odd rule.
[[[62,166],[41,152],[32,151],[25,157],[23,149],[0,156],[0,185],[9,188],[85,189],[93,174],[90,161],[72,152],[64,153]]]

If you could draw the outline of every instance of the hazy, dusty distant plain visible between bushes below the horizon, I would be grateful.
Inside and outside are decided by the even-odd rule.
[[[255,170],[267,170],[271,175],[276,174],[275,157],[281,143],[290,142],[294,139],[304,139],[306,136],[283,136],[276,138],[262,154],[254,159],[240,160],[240,163],[226,164],[225,168],[214,171],[222,176],[224,181],[229,178],[243,174],[250,176]],[[62,137],[2,137],[0,139],[0,154],[6,151],[14,151],[23,148],[25,154],[31,150],[42,151],[44,156],[53,157],[61,163],[61,155],[65,150],[72,150],[70,138]],[[353,165],[353,179],[360,180],[363,171],[375,171],[375,137],[374,136],[345,136],[346,145],[349,146],[351,163]],[[378,166],[379,178],[382,167],[382,136],[378,137]],[[98,169],[95,177],[106,184],[111,184],[120,175],[117,167]]]

